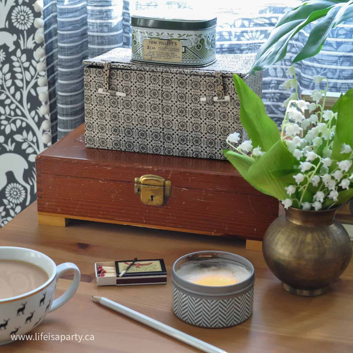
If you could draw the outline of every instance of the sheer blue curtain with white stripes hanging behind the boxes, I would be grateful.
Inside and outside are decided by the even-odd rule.
[[[214,9],[218,18],[217,53],[256,53],[283,14],[300,0],[251,0],[238,5],[222,0]],[[251,2],[251,5],[247,5]],[[53,142],[84,121],[82,60],[115,47],[130,46],[130,11],[147,8],[173,11],[193,8],[195,1],[44,0],[44,28],[48,65]],[[310,28],[309,28],[310,29]],[[290,59],[304,46],[309,30],[291,41],[286,59],[264,71],[263,101],[269,116],[280,124],[282,103],[288,92],[280,88],[287,79]],[[313,89],[312,77],[327,76],[329,90],[346,91],[353,86],[353,21],[331,31],[321,53],[296,65],[299,88]],[[236,71],[236,68],[234,68]],[[57,121],[57,124],[56,124]],[[57,134],[57,136],[56,136]]]

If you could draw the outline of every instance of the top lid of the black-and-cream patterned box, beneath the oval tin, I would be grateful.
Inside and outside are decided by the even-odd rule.
[[[250,72],[252,63],[255,61],[255,56],[256,54],[218,54],[217,60],[213,64],[205,67],[190,68],[132,62],[131,49],[115,48],[95,58],[83,60],[83,64],[85,66],[103,67],[106,62],[111,62],[111,69],[183,73],[204,76],[213,76],[215,72],[220,72],[222,76],[225,77],[233,77],[235,72],[240,77],[245,77]]]

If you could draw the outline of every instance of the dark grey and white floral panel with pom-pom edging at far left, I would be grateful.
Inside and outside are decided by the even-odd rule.
[[[51,143],[41,10],[0,0],[0,227],[36,199],[35,156]]]

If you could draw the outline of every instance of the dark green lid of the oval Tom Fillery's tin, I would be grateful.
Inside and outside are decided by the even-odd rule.
[[[216,24],[217,17],[196,18],[194,14],[186,11],[173,11],[172,16],[145,16],[145,12],[144,16],[139,14],[131,16],[131,25],[135,27],[190,31],[212,28]]]

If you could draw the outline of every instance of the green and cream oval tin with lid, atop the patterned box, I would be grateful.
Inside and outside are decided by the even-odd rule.
[[[217,18],[131,16],[131,60],[201,67],[216,61]]]

